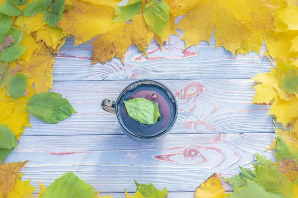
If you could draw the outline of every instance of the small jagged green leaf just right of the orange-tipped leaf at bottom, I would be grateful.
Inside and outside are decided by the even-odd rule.
[[[222,178],[235,188],[240,188],[247,184],[247,180],[255,181],[256,173],[253,170],[242,168],[240,166],[240,174],[231,178]]]

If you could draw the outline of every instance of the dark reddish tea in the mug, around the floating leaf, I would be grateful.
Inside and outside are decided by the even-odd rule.
[[[132,119],[125,108],[124,101],[128,99],[145,98],[158,105],[160,116],[156,124],[146,125]],[[175,104],[168,93],[162,88],[152,84],[141,84],[130,88],[119,102],[121,113],[119,118],[134,134],[143,137],[152,137],[162,133],[173,122],[175,117]]]

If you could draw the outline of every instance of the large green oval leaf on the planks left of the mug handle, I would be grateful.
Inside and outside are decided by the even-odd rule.
[[[67,99],[53,92],[35,94],[29,99],[26,108],[33,116],[50,124],[58,123],[76,113]]]

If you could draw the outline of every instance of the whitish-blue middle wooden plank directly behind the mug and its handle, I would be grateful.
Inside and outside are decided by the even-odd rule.
[[[70,100],[78,112],[58,124],[30,117],[27,135],[122,134],[116,116],[101,109],[103,99],[116,100],[133,81],[55,82],[54,91]],[[178,101],[172,133],[268,133],[272,120],[268,105],[250,104],[251,80],[161,80]]]

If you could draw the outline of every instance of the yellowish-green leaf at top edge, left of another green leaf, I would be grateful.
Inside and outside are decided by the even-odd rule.
[[[127,5],[118,5],[115,8],[115,15],[113,22],[125,22],[134,18],[142,8],[142,0],[130,0]]]

